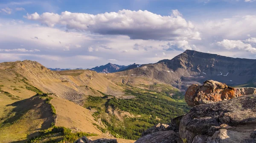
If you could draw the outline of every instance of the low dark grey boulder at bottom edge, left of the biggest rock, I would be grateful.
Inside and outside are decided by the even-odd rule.
[[[182,143],[182,140],[174,131],[160,131],[145,135],[135,143]]]

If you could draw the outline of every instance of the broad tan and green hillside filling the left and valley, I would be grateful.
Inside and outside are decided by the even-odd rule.
[[[0,101],[0,143],[71,143],[81,135],[132,143],[188,111],[179,90],[155,79],[53,72],[32,61],[0,63]]]

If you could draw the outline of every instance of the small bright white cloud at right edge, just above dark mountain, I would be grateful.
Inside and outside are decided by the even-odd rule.
[[[227,40],[224,39],[221,42],[216,42],[216,45],[226,48],[227,50],[239,49],[245,50],[251,53],[256,53],[256,48],[253,48],[252,45],[244,43],[241,40]]]

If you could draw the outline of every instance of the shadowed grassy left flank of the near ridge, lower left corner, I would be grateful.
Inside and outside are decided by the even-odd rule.
[[[40,96],[7,106],[14,108],[0,118],[0,138],[3,137],[3,143],[22,143],[38,135],[39,130],[48,129],[53,121],[51,107]]]

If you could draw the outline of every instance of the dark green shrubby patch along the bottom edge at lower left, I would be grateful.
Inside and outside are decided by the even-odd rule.
[[[26,143],[73,143],[80,137],[96,135],[85,132],[73,133],[63,126],[52,126],[49,129],[40,131],[38,136],[32,137]]]

